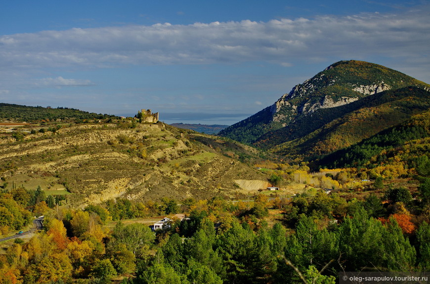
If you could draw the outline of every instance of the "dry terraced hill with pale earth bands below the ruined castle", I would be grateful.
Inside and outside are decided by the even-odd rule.
[[[58,194],[71,193],[68,201],[80,204],[119,196],[181,200],[240,195],[236,179],[267,178],[238,161],[257,158],[257,150],[162,123],[118,120],[44,132],[24,127],[0,139],[0,175],[6,189],[40,185]]]

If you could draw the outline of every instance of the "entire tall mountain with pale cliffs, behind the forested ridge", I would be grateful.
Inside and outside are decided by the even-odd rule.
[[[430,90],[430,85],[378,64],[357,60],[339,61],[294,86],[272,106],[224,129],[219,135],[245,143],[258,142],[258,146],[262,147],[267,147],[267,143],[273,146],[285,142],[282,139],[294,139],[294,135],[291,135],[292,125],[306,121],[311,124],[306,126],[308,129],[320,127],[323,118],[323,122],[318,123],[309,118],[316,112],[335,111],[368,96],[409,86]],[[275,142],[270,135],[284,128]]]

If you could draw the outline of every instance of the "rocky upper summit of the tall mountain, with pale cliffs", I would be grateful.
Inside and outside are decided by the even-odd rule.
[[[339,61],[296,85],[271,106],[273,121],[283,124],[319,108],[343,106],[368,95],[419,81],[398,71],[364,61]]]

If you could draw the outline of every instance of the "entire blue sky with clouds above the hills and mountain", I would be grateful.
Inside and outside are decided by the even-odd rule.
[[[233,124],[339,60],[430,83],[430,1],[3,1],[0,102]]]

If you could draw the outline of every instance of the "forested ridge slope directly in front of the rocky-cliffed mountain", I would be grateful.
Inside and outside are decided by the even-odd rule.
[[[389,90],[345,106],[318,109],[311,116],[271,133],[267,141],[287,140],[285,133],[291,134],[298,138],[275,145],[270,151],[315,159],[400,124],[429,107],[430,92],[426,90],[417,87]]]

